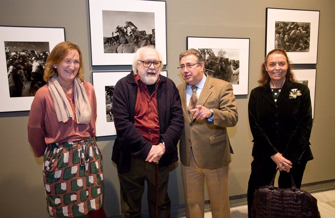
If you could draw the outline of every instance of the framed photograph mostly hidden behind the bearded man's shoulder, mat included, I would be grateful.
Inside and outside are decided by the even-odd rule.
[[[116,135],[113,115],[113,94],[117,81],[127,76],[130,71],[92,72],[93,86],[97,96],[97,136]],[[161,75],[168,77],[168,71]]]

